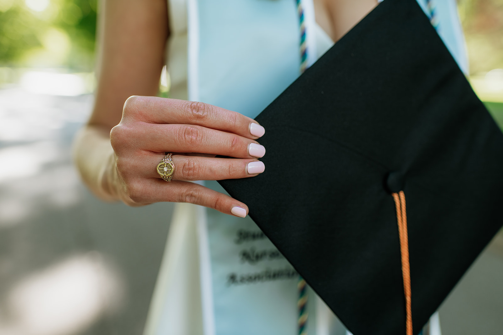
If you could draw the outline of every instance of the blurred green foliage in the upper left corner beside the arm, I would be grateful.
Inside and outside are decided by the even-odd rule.
[[[0,0],[0,66],[91,71],[97,0]]]

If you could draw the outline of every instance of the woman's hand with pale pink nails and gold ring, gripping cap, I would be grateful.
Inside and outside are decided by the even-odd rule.
[[[262,173],[265,166],[257,158],[266,150],[256,139],[264,132],[253,119],[215,106],[133,96],[124,104],[121,122],[110,132],[115,161],[110,162],[103,183],[132,206],[189,202],[244,217],[245,204],[190,181]],[[165,152],[174,153],[172,182],[163,181],[156,171]]]

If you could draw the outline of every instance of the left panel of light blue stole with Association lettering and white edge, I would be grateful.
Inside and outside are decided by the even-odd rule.
[[[195,0],[193,23],[190,100],[253,118],[300,74],[293,0]],[[206,186],[224,192],[216,182]],[[253,220],[208,210],[200,240],[206,335],[298,332],[299,276]],[[314,317],[314,304],[308,308]]]

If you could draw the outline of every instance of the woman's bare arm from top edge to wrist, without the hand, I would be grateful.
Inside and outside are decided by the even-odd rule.
[[[98,88],[93,114],[75,139],[82,179],[104,200],[116,200],[110,130],[132,95],[155,96],[169,34],[165,0],[103,0],[97,36]]]

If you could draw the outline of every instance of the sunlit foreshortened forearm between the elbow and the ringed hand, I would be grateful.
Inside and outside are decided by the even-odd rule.
[[[87,125],[73,143],[73,160],[83,182],[100,199],[118,200],[115,153],[110,144],[110,130]]]

